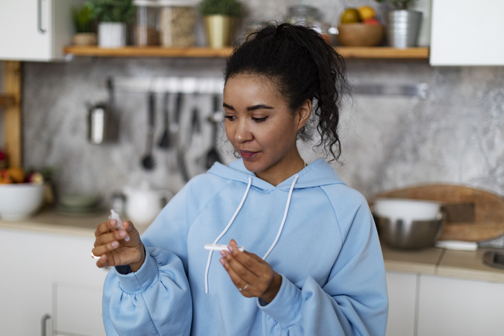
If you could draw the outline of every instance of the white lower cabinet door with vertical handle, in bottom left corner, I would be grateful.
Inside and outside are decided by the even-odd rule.
[[[40,335],[52,311],[54,246],[47,234],[0,229],[0,335]]]

